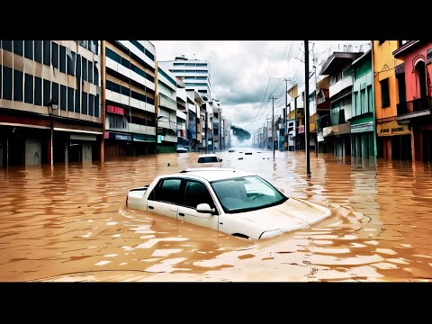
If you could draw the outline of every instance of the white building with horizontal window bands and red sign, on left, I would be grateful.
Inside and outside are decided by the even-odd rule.
[[[148,40],[103,40],[105,157],[156,153],[157,69]]]

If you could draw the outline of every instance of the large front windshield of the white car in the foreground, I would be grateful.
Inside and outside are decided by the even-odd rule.
[[[257,175],[213,181],[211,187],[227,213],[254,211],[288,199]]]

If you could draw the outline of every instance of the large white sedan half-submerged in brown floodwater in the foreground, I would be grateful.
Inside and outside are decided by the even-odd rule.
[[[126,205],[241,238],[272,238],[329,217],[319,204],[288,198],[262,177],[227,168],[191,168],[130,189]]]

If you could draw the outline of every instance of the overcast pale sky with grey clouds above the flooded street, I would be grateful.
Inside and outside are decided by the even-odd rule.
[[[222,115],[231,124],[251,133],[271,118],[275,98],[275,118],[284,107],[284,78],[298,84],[304,80],[304,45],[302,40],[150,40],[156,47],[157,60],[187,58],[209,60],[211,95],[220,100]],[[311,40],[310,50],[320,60],[343,45],[369,44],[369,40]],[[364,49],[367,50],[364,46]],[[288,81],[288,88],[290,81]]]

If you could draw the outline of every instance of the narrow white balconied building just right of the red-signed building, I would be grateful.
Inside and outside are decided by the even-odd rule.
[[[165,67],[157,67],[157,153],[173,153],[176,150],[176,80]]]

